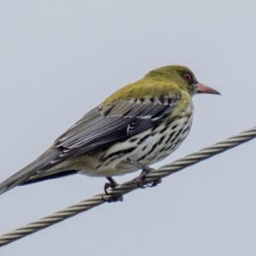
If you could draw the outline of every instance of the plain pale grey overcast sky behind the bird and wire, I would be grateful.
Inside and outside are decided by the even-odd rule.
[[[256,125],[255,1],[1,1],[0,181],[119,87],[168,64],[222,96],[194,97],[162,166]],[[256,140],[0,248],[26,255],[255,255]],[[139,172],[117,177],[119,183]],[[0,235],[102,192],[81,175],[0,196]]]

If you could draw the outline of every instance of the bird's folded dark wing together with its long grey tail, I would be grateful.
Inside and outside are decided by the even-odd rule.
[[[37,179],[37,173],[42,174],[65,160],[154,128],[172,113],[179,100],[180,96],[137,98],[92,109],[37,160],[0,183],[0,195],[16,185],[30,183],[30,177]]]

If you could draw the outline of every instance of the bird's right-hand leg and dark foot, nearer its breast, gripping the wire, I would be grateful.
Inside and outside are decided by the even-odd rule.
[[[139,169],[142,169],[143,172],[140,173],[139,177],[137,177],[137,186],[141,189],[145,189],[147,187],[155,187],[157,184],[161,183],[162,180],[159,179],[157,181],[148,183],[146,185],[143,185],[143,181],[145,179],[145,177],[147,176],[148,172],[151,172],[154,170],[154,168],[151,168],[147,165],[143,165],[142,163],[140,163],[137,160],[131,160],[131,158],[127,158],[127,162],[132,165],[132,166],[136,166]]]

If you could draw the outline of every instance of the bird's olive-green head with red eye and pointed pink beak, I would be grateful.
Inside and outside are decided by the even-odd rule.
[[[197,93],[220,95],[217,90],[214,90],[205,84],[199,83],[195,78],[195,74],[188,67],[170,65],[154,69],[147,75],[160,80],[168,79],[176,83],[181,90],[187,91],[190,96],[194,96]]]

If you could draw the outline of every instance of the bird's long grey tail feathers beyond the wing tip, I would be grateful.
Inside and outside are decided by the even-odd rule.
[[[41,154],[38,159],[34,160],[28,166],[25,166],[19,172],[16,172],[11,177],[7,178],[3,183],[0,183],[0,195],[8,191],[9,189],[13,189],[15,186],[20,185],[21,183],[25,183],[29,177],[36,174],[40,170],[50,164],[55,157],[60,154],[57,148],[51,149],[49,148]]]

